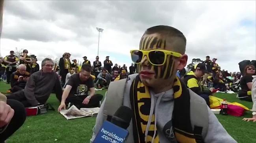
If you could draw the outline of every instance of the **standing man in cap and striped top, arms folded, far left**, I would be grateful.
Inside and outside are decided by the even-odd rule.
[[[14,55],[14,51],[10,51],[10,55],[4,58],[4,62],[7,63],[6,73],[7,73],[7,84],[10,83],[11,74],[17,70],[17,62],[19,58]]]

